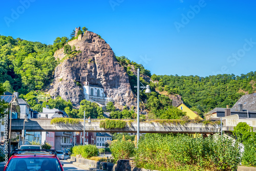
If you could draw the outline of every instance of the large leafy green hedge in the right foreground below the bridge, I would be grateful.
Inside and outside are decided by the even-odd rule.
[[[236,170],[240,157],[239,143],[224,136],[146,134],[135,162],[154,170]]]

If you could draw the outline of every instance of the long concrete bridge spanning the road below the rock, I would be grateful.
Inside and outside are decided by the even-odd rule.
[[[23,119],[12,120],[12,131],[21,132],[23,130]],[[119,132],[119,133],[137,133],[137,122],[132,122],[131,125],[126,124],[122,129],[104,129],[100,126],[100,119],[93,120],[91,123],[86,121],[86,132]],[[71,123],[55,123],[51,124],[51,119],[29,119],[25,122],[26,131],[38,131],[38,132],[83,132],[83,122],[77,124]],[[228,132],[228,126],[223,126],[223,131]],[[217,133],[220,129],[217,129],[217,125],[203,123],[185,123],[175,124],[166,123],[160,124],[158,122],[140,122],[140,133],[200,133],[211,134]]]

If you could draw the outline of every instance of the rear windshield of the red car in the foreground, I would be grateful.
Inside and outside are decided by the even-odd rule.
[[[10,160],[6,171],[29,171],[38,169],[61,171],[61,166],[56,158],[13,158]]]

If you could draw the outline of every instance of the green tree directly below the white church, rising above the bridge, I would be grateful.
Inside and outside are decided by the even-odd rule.
[[[88,100],[82,100],[80,102],[80,108],[79,108],[79,113],[78,113],[78,118],[83,118],[83,111],[86,112],[86,118],[91,117],[91,119],[97,119],[103,118],[103,110],[102,108],[96,104],[92,103],[91,101]]]

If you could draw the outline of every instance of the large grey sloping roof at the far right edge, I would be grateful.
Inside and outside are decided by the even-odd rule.
[[[238,109],[238,104],[243,104],[244,109],[256,111],[256,93],[243,95],[232,109]]]

